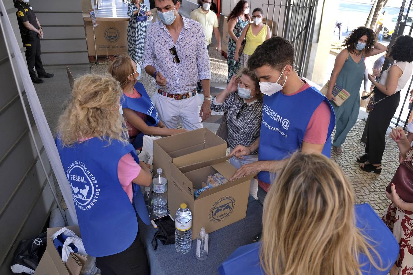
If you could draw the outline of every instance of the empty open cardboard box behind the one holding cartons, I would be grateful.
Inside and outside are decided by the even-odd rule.
[[[162,168],[169,182],[169,162],[176,167],[183,167],[225,157],[226,150],[227,143],[207,128],[157,139],[154,141],[154,173]]]

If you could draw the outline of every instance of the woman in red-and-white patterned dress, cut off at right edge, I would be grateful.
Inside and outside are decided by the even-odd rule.
[[[413,164],[413,147],[404,134],[403,128],[393,129],[390,137],[396,141],[404,159]],[[413,203],[401,200],[393,183],[392,193],[389,194],[386,191],[385,193],[392,203],[387,208],[382,220],[392,230],[400,246],[399,258],[390,270],[390,274],[413,274]]]

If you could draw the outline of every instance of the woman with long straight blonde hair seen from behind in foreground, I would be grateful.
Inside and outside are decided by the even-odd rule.
[[[385,275],[399,247],[369,204],[354,205],[341,169],[294,153],[263,205],[260,242],[240,247],[221,274]]]

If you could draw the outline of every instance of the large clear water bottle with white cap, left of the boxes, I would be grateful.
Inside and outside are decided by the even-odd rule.
[[[154,188],[154,214],[158,217],[168,213],[168,195],[166,193],[167,183],[162,169],[157,169],[156,176],[152,179]]]

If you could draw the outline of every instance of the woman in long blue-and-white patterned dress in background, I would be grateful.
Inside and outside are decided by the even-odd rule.
[[[128,5],[128,54],[138,62],[143,56],[143,43],[147,28],[147,16],[152,16],[150,9],[142,3],[143,0],[131,0]]]

